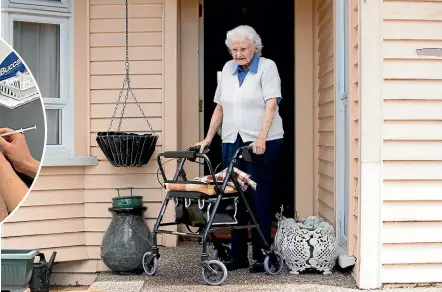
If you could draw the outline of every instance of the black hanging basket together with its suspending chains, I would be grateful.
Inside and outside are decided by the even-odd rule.
[[[129,44],[128,44],[128,3],[126,0],[126,77],[123,82],[123,87],[120,91],[118,101],[115,105],[115,110],[107,132],[98,132],[96,141],[101,151],[103,151],[109,162],[115,167],[141,167],[146,165],[152,157],[155,146],[158,141],[158,135],[154,133],[152,126],[144,115],[144,112],[132,92],[130,85],[129,74]],[[115,119],[120,99],[125,93],[125,100],[123,109],[121,111],[120,122],[116,131],[111,131],[112,123]],[[127,99],[129,95],[135,100],[141,114],[149,126],[150,133],[136,134],[120,131],[121,123],[123,121],[124,110],[126,108]]]

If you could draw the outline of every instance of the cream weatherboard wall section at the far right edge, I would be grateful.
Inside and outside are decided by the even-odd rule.
[[[442,282],[442,2],[383,1],[382,283]]]

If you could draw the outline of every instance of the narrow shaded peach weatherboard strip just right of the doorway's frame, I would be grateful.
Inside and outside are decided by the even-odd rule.
[[[315,204],[332,225],[335,215],[335,19],[334,1],[314,2]],[[315,213],[316,213],[315,212]]]

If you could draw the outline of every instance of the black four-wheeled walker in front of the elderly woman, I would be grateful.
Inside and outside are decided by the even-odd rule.
[[[186,151],[166,151],[157,156],[159,171],[164,180],[164,184],[168,185],[167,195],[162,203],[160,214],[155,222],[152,231],[152,250],[143,256],[143,268],[147,275],[155,276],[158,272],[158,259],[160,258],[159,248],[157,246],[156,235],[158,233],[182,235],[186,237],[196,237],[201,239],[202,254],[200,265],[202,268],[202,278],[208,285],[221,285],[227,279],[227,268],[221,261],[229,258],[230,249],[223,245],[214,236],[214,232],[232,229],[248,229],[257,228],[259,236],[263,242],[262,252],[265,256],[264,268],[269,275],[278,275],[283,269],[283,258],[278,254],[271,245],[266,241],[264,235],[255,219],[249,203],[246,200],[244,192],[237,180],[234,165],[239,159],[252,162],[250,154],[250,146],[239,148],[226,169],[226,175],[220,183],[215,176],[212,164],[205,153],[200,153],[199,147],[190,147]],[[178,167],[172,180],[166,178],[161,158],[178,159]],[[186,160],[195,162],[196,159],[202,158],[210,171],[213,178],[212,183],[204,183],[201,181],[189,181],[183,169]],[[198,162],[197,162],[198,163]],[[228,185],[229,179],[234,184],[234,188]],[[161,183],[160,183],[161,184]],[[164,187],[164,186],[163,186]],[[211,189],[212,193],[205,191],[197,191],[198,188]],[[162,223],[164,213],[169,200],[175,202],[175,222]],[[239,225],[236,221],[236,206],[239,200],[244,202],[246,210],[250,215],[252,224]],[[171,226],[177,224],[185,224],[189,229],[189,233],[162,230],[161,226]],[[191,232],[189,226],[199,227],[196,232]],[[214,247],[214,255],[209,257],[207,245],[212,244]]]

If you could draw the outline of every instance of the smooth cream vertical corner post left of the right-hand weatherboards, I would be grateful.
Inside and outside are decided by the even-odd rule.
[[[358,5],[360,289],[382,287],[382,2]]]

